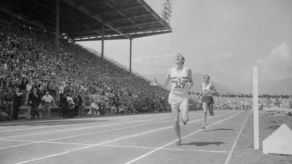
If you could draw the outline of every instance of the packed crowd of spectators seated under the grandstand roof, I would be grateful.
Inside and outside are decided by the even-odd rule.
[[[60,51],[55,53],[54,35],[41,33],[28,26],[0,22],[0,86],[3,94],[12,88],[23,91],[22,104],[28,104],[28,94],[37,88],[48,91],[60,105],[64,92],[78,92],[92,101],[123,99],[128,105],[134,99],[148,103],[149,99],[165,100],[169,91],[150,86],[138,73],[104,59],[100,54],[60,39]],[[109,59],[109,58],[108,58]],[[126,99],[127,98],[127,99]],[[138,100],[136,100],[138,101]]]

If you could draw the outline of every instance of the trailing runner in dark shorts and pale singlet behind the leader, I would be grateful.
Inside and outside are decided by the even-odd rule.
[[[212,95],[217,94],[217,91],[216,91],[214,85],[209,82],[209,80],[210,80],[209,75],[205,75],[204,80],[205,80],[205,82],[203,84],[201,84],[202,90],[201,90],[199,97],[198,97],[198,99],[200,99],[200,96],[203,93],[202,107],[203,107],[204,114],[203,114],[203,128],[202,129],[206,128],[205,123],[206,123],[206,119],[207,119],[207,110],[208,109],[209,109],[209,114],[211,116],[214,116],[214,111],[213,111],[214,100],[213,100]]]

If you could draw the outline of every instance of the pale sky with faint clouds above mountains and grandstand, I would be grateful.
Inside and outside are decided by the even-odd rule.
[[[162,0],[145,0],[159,13]],[[132,71],[166,73],[181,53],[192,73],[222,85],[292,78],[291,0],[173,0],[172,33],[132,40]],[[101,52],[101,41],[76,42]],[[104,55],[129,67],[130,40],[104,41]],[[203,77],[202,77],[203,79]]]

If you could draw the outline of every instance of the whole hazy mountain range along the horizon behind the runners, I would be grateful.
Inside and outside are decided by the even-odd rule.
[[[191,91],[200,92],[200,85],[204,82],[203,73],[193,73],[193,82],[194,86],[191,88]],[[156,77],[158,82],[164,82],[166,74],[165,73],[155,73],[152,75],[145,75],[150,80],[153,80]],[[253,92],[253,83],[244,83],[239,86],[226,86],[218,84],[215,81],[210,80],[212,84],[214,84],[216,90],[219,93],[252,93]],[[167,88],[171,88],[171,83],[168,83]],[[278,82],[267,81],[264,83],[258,83],[258,93],[265,94],[292,94],[292,78],[288,77],[282,79]]]

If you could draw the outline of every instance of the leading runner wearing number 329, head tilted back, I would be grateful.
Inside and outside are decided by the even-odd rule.
[[[182,122],[186,124],[188,122],[188,89],[191,89],[194,85],[191,77],[191,69],[183,66],[184,62],[185,58],[178,53],[174,58],[175,66],[168,69],[165,81],[159,83],[154,78],[154,82],[150,84],[166,88],[168,82],[171,81],[168,103],[171,105],[171,111],[174,117],[174,131],[178,138],[177,146],[181,145],[179,111],[181,112]]]

